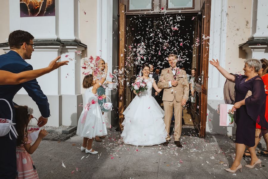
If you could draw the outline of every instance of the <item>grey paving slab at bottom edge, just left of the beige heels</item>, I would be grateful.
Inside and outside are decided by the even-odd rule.
[[[223,165],[191,162],[191,166],[194,178],[230,178],[229,172],[225,171],[228,167]]]

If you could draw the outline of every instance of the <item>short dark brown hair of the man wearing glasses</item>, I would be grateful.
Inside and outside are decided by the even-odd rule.
[[[23,30],[15,30],[9,34],[8,44],[10,49],[20,49],[21,45],[25,43],[30,43],[30,40],[33,40],[34,36],[29,32]]]

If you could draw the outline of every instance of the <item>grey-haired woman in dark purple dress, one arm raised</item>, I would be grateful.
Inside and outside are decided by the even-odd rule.
[[[261,165],[261,160],[258,159],[254,145],[255,145],[255,128],[256,123],[260,124],[261,134],[268,132],[268,123],[265,120],[265,104],[266,95],[264,90],[264,83],[257,72],[261,69],[261,61],[256,59],[248,59],[243,68],[244,75],[232,75],[225,69],[219,66],[219,61],[209,61],[219,72],[228,80],[235,82],[235,104],[232,110],[236,111],[236,157],[233,165],[228,172],[235,173],[242,168],[240,163],[245,148],[249,149],[251,161],[248,168],[254,168],[255,165]],[[252,95],[247,97],[247,92],[251,91]]]

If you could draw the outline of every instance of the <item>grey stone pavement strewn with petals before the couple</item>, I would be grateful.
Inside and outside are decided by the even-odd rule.
[[[198,138],[184,132],[183,148],[178,148],[173,140],[169,146],[131,146],[122,142],[119,132],[108,131],[102,142],[94,141],[93,148],[99,152],[96,155],[81,152],[82,138],[79,136],[66,138],[69,139],[52,141],[51,134],[50,140],[41,141],[32,154],[39,178],[268,179],[268,156],[259,155],[261,168],[243,167],[241,173],[226,172],[235,157],[235,143],[234,138],[224,135]],[[241,161],[242,165],[249,162],[250,158]]]

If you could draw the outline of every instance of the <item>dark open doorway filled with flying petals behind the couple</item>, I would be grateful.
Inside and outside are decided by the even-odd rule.
[[[184,67],[191,74],[193,34],[195,21],[190,14],[135,15],[126,18],[126,74],[131,85],[139,75],[141,66],[153,64],[155,70],[169,67],[167,57],[178,55],[177,67]],[[126,107],[134,98],[126,87]]]

